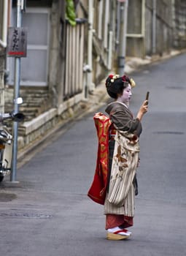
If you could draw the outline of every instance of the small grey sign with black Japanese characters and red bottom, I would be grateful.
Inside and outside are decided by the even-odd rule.
[[[10,27],[8,31],[7,56],[26,57],[27,29]]]

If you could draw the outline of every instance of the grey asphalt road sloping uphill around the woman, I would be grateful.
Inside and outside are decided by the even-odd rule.
[[[150,91],[140,138],[133,236],[107,241],[103,207],[87,192],[96,167],[93,113],[63,127],[0,186],[0,255],[185,256],[186,55],[133,74],[134,115]],[[104,111],[102,106],[99,111]]]

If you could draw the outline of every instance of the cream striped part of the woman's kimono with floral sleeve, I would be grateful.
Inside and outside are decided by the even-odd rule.
[[[139,138],[128,132],[116,132],[110,170],[109,189],[104,203],[105,214],[133,217],[133,178],[139,162]]]

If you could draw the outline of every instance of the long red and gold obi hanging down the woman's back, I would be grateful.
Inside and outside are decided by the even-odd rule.
[[[88,191],[88,196],[96,203],[104,205],[109,161],[109,127],[112,123],[110,118],[103,113],[96,113],[93,120],[98,135],[98,155],[93,183]]]

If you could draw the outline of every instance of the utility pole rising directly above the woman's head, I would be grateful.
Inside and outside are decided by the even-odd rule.
[[[122,76],[125,72],[126,34],[128,19],[128,0],[120,1],[120,42],[118,56],[118,72]]]

